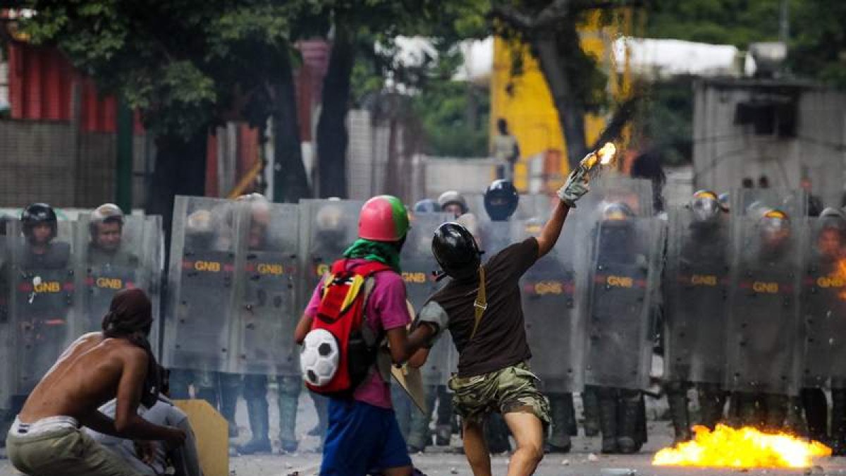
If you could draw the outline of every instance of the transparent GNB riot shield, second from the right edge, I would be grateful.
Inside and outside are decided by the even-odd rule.
[[[799,191],[740,190],[733,196],[728,390],[798,394],[804,206]]]

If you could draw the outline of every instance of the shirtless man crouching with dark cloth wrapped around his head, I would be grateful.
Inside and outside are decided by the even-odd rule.
[[[102,332],[86,334],[58,358],[15,418],[6,439],[8,459],[22,473],[134,476],[126,462],[80,425],[133,440],[184,443],[181,429],[158,426],[138,415],[138,405],[156,401],[155,360],[147,342],[151,303],[138,289],[115,294]],[[117,398],[114,419],[99,412]]]

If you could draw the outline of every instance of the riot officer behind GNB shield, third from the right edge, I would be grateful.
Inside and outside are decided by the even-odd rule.
[[[688,206],[673,208],[664,274],[666,332],[664,390],[675,443],[689,440],[687,393],[699,392],[701,424],[722,418],[722,344],[725,340],[728,220],[712,191],[695,192]]]

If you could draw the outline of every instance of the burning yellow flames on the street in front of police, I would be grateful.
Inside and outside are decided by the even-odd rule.
[[[789,434],[769,434],[744,427],[695,426],[693,440],[658,451],[656,466],[717,468],[808,468],[814,457],[832,456],[831,448]]]

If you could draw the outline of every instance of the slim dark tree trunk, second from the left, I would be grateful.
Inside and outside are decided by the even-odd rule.
[[[294,74],[288,56],[283,58],[273,85],[273,201],[296,203],[311,193],[300,145]]]

